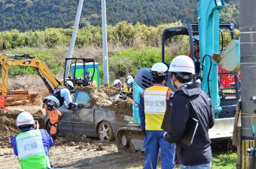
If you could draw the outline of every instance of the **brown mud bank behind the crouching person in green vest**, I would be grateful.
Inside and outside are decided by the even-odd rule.
[[[19,133],[16,127],[16,119],[19,110],[9,110],[8,112],[0,110],[0,147],[7,147],[9,138]],[[32,113],[35,120],[38,120],[40,128],[44,128],[45,115],[41,110]]]

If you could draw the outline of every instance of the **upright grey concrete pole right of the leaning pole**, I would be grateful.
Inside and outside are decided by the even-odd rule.
[[[102,51],[103,51],[103,84],[109,87],[109,57],[108,57],[108,40],[106,39],[106,1],[101,0],[102,15]]]

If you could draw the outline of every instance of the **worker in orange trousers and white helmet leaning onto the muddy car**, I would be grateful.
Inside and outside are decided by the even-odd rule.
[[[50,122],[52,124],[50,134],[56,135],[59,119],[61,118],[61,113],[58,110],[59,107],[65,106],[65,108],[71,109],[76,107],[76,103],[72,103],[70,97],[70,91],[74,89],[74,85],[71,81],[65,82],[63,87],[55,89],[52,95],[49,95],[44,100],[44,108],[48,112],[50,117]]]

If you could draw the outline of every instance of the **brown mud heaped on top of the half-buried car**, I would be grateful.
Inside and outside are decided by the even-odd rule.
[[[121,100],[117,94],[119,89],[110,88],[95,88],[91,86],[77,87],[76,89],[86,91],[91,95],[89,103],[91,106],[107,108],[115,112],[115,114],[125,114],[133,116],[133,101],[130,99]]]

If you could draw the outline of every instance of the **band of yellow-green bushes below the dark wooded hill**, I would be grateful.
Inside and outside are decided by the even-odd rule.
[[[127,21],[109,25],[108,42],[122,44],[124,46],[159,46],[161,44],[162,31],[167,26],[180,25],[181,21],[147,27],[139,22],[134,26]],[[17,30],[0,32],[0,50],[9,50],[16,47],[48,47],[58,45],[69,46],[73,29],[48,28],[44,31],[27,31],[21,33]],[[86,47],[90,45],[102,46],[102,31],[100,26],[89,26],[79,29],[75,45]]]

